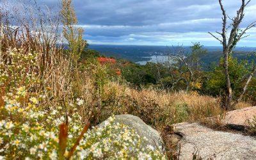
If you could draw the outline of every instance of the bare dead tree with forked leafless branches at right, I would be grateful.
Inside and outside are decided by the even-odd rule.
[[[241,0],[242,4],[239,8],[239,10],[237,10],[236,16],[233,17],[232,19],[230,19],[226,13],[226,10],[222,4],[222,0],[219,0],[220,3],[220,8],[221,8],[221,12],[222,12],[222,31],[218,32],[216,31],[216,33],[218,35],[220,35],[221,37],[215,36],[212,33],[211,34],[214,38],[216,38],[216,40],[220,41],[220,43],[223,46],[223,57],[224,57],[224,64],[223,64],[223,69],[225,72],[225,81],[226,81],[226,95],[225,95],[225,105],[224,108],[225,109],[232,109],[234,108],[234,106],[237,104],[237,102],[239,102],[239,100],[242,99],[244,93],[246,92],[247,86],[250,83],[253,75],[256,72],[255,67],[253,67],[252,73],[250,74],[250,76],[248,76],[248,80],[246,81],[246,84],[244,84],[244,88],[243,88],[243,92],[241,93],[241,96],[239,96],[238,99],[235,100],[235,102],[232,104],[232,100],[233,100],[233,93],[232,93],[232,88],[231,88],[231,83],[230,83],[230,75],[229,75],[229,71],[228,71],[228,57],[230,56],[230,54],[232,54],[232,51],[234,50],[234,48],[236,47],[237,42],[239,42],[239,40],[245,38],[248,35],[245,35],[246,32],[255,27],[256,22],[252,22],[251,24],[249,24],[245,29],[241,29],[240,24],[244,18],[244,9],[246,8],[246,6],[248,6],[248,4],[250,3],[250,0],[248,0],[247,2],[245,0]],[[227,19],[232,20],[230,26],[227,26]],[[228,29],[230,29],[230,32],[228,34]],[[228,36],[229,35],[229,36]]]

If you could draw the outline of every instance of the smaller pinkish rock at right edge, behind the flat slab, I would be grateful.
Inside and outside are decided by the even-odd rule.
[[[256,106],[227,112],[223,123],[232,129],[244,130],[248,127],[247,120],[253,120],[253,116],[256,116]]]

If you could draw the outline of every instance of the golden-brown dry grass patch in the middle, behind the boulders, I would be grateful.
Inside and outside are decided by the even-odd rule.
[[[136,90],[125,84],[111,82],[104,88],[100,119],[111,114],[132,114],[147,124],[161,129],[179,122],[196,122],[205,117],[219,115],[218,99],[197,93],[168,93],[163,90]]]

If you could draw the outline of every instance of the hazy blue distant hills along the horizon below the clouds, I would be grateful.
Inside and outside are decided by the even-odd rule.
[[[90,49],[99,51],[104,56],[122,58],[134,63],[139,61],[150,61],[151,56],[164,56],[170,52],[178,51],[177,46],[148,46],[148,45],[89,45]],[[189,46],[183,46],[185,52],[189,54]],[[202,56],[201,60],[204,67],[209,67],[212,62],[218,62],[222,56],[221,47],[204,47],[207,49],[207,54]],[[256,47],[236,47],[234,57],[238,60],[256,60]]]

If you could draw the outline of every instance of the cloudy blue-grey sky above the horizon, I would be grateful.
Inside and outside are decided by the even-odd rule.
[[[38,0],[60,7],[60,0]],[[73,0],[79,26],[89,44],[221,45],[208,32],[221,31],[218,0]],[[241,0],[223,0],[234,17]],[[246,8],[241,28],[256,20],[256,0]],[[256,47],[256,28],[238,45]]]

